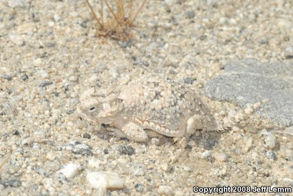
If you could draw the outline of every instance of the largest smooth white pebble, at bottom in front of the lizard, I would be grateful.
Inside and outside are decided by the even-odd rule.
[[[99,190],[97,195],[106,195],[106,189],[115,190],[124,187],[124,181],[114,172],[89,172],[86,179],[93,188]]]

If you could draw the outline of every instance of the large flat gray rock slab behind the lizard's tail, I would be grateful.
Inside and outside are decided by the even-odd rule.
[[[223,74],[205,86],[212,99],[238,104],[269,100],[256,112],[281,125],[293,125],[293,64],[262,64],[248,59],[224,65]]]

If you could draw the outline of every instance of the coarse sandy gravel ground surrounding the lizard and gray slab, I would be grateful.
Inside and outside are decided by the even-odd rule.
[[[119,41],[95,36],[85,1],[1,1],[0,195],[98,195],[86,179],[92,171],[124,181],[109,195],[292,188],[292,137],[271,134],[263,129],[281,128],[203,93],[228,60],[284,61],[293,45],[292,7],[292,1],[147,1],[130,38]],[[241,126],[209,139],[194,136],[182,149],[170,138],[114,138],[76,117],[85,89],[123,85],[147,72],[184,80],[219,120],[236,109]],[[231,193],[239,194],[253,193]]]

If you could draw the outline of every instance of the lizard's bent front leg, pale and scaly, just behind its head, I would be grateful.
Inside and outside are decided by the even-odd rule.
[[[148,134],[133,122],[129,122],[125,124],[121,131],[126,135],[129,140],[145,142],[148,141]]]

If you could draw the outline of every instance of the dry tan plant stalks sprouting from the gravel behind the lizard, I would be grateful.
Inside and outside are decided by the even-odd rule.
[[[91,7],[89,1],[85,1],[90,11],[92,12],[94,19],[99,25],[99,35],[110,35],[116,38],[121,38],[121,36],[124,37],[124,35],[127,34],[126,29],[133,24],[133,21],[135,20],[146,2],[146,0],[138,0],[141,1],[141,4],[140,6],[138,6],[137,10],[134,11],[135,0],[114,0],[112,4],[109,3],[109,0],[101,0],[100,17],[98,17]],[[111,15],[111,18],[108,20],[105,19],[104,5],[106,5],[109,14]]]

